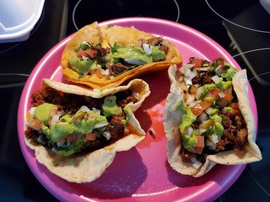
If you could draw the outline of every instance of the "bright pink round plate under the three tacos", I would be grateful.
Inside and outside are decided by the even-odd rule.
[[[215,41],[206,35],[181,24],[153,18],[123,18],[99,23],[134,26],[139,30],[162,35],[179,49],[183,63],[189,57],[209,61],[223,57],[225,61],[241,69],[236,61]],[[118,153],[100,178],[91,182],[76,184],[67,182],[52,174],[39,164],[34,151],[24,142],[24,119],[30,108],[30,95],[41,87],[42,78],[64,81],[60,60],[68,36],[33,69],[23,89],[19,111],[18,132],[24,158],[35,177],[60,200],[69,201],[210,201],[221,195],[242,173],[246,165],[216,165],[200,178],[185,176],[174,171],[167,162],[166,137],[163,128],[163,111],[170,81],[167,70],[150,73],[142,77],[150,86],[151,94],[135,116],[146,131],[145,139],[128,151]],[[257,128],[257,111],[253,92],[250,90],[250,106]],[[155,135],[148,130],[153,128]]]

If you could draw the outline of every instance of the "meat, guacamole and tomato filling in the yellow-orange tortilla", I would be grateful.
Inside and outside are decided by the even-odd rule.
[[[75,47],[76,54],[69,58],[70,67],[80,75],[96,75],[113,79],[140,65],[163,61],[168,53],[167,40],[162,37],[138,40],[137,46],[119,45],[102,47],[101,43],[87,41]]]

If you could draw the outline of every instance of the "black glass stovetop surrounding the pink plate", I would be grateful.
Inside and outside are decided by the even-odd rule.
[[[270,103],[270,15],[255,0],[46,1],[28,40],[0,44],[2,200],[57,201],[26,165],[17,136],[19,98],[35,64],[62,38],[90,22],[135,16],[163,18],[195,28],[221,44],[247,69],[257,103],[257,144],[263,160],[249,164],[216,201],[270,201],[270,126],[266,117]]]

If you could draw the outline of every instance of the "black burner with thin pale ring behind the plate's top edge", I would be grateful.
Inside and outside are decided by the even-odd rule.
[[[104,5],[107,6],[104,7]],[[180,9],[176,0],[171,1],[137,0],[129,2],[124,0],[112,0],[112,1],[105,0],[95,2],[95,7],[103,8],[103,10],[93,9],[91,7],[91,4],[89,4],[89,1],[79,0],[75,4],[72,12],[72,21],[77,30],[93,21],[101,22],[113,18],[143,16],[143,17],[162,18],[178,22],[180,17]],[[76,12],[77,10],[80,10],[80,12]],[[102,13],[105,13],[106,15],[102,15]]]

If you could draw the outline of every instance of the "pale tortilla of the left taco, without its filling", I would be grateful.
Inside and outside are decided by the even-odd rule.
[[[128,104],[131,109],[126,111],[128,116],[130,116],[128,121],[130,134],[106,147],[95,150],[92,153],[73,158],[61,157],[53,153],[49,148],[46,148],[41,144],[37,144],[36,142],[32,141],[32,139],[25,137],[27,146],[35,150],[37,161],[45,165],[52,173],[56,174],[57,176],[69,182],[91,182],[97,179],[112,163],[117,151],[129,150],[144,139],[145,132],[132,113],[132,111],[135,111],[140,107],[143,100],[150,94],[149,86],[143,80],[135,79],[130,81],[130,83],[126,86],[119,86],[114,89],[106,89],[102,92],[95,92],[84,87],[63,84],[49,79],[43,79],[42,87],[44,88],[46,86],[50,86],[56,90],[66,93],[91,96],[95,98],[100,98],[115,92],[132,89],[138,92],[141,97],[137,103]]]

